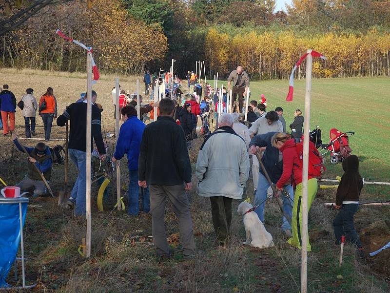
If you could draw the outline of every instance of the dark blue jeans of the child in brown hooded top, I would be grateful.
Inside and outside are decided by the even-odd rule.
[[[353,216],[359,209],[359,204],[342,205],[340,211],[334,217],[333,231],[336,237],[336,244],[341,244],[341,236],[344,235],[347,242],[361,248],[359,236],[353,225]]]

